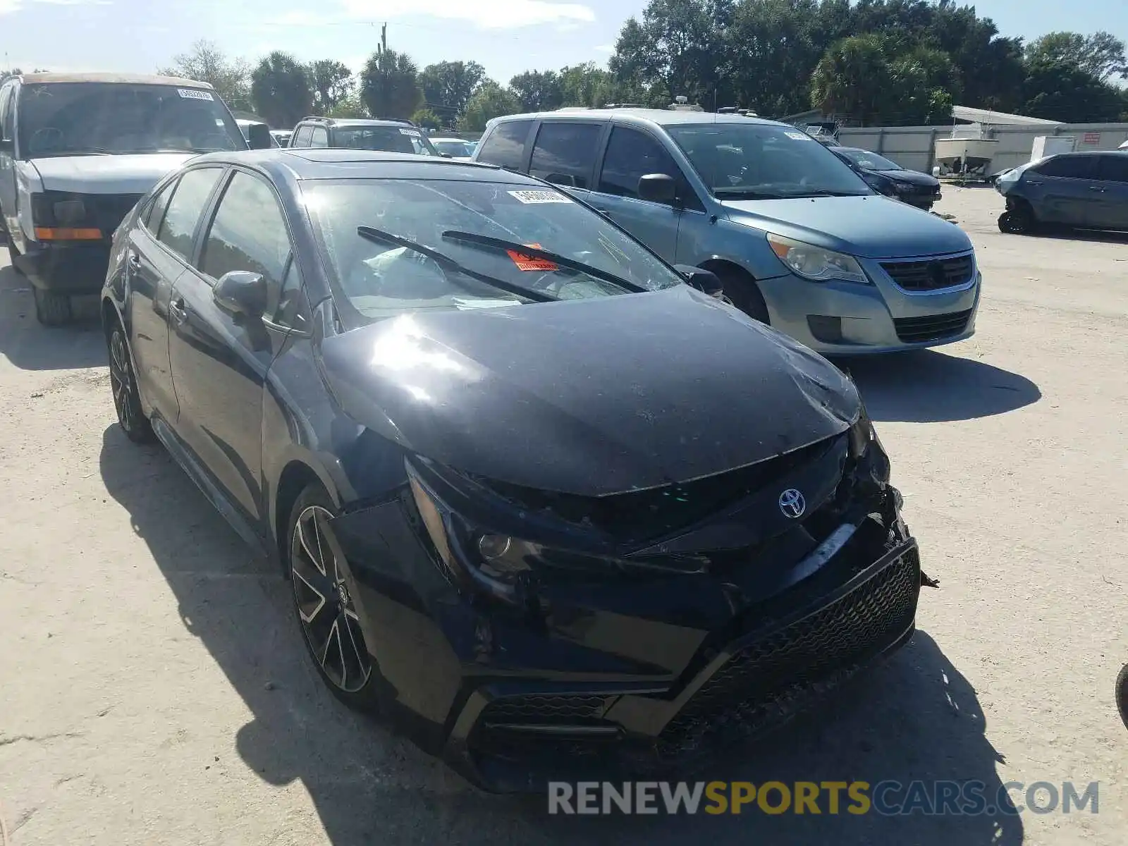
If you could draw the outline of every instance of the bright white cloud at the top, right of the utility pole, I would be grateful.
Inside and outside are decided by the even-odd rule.
[[[0,0],[18,2],[19,0]],[[52,2],[71,0],[51,0]],[[81,0],[78,0],[81,1]],[[373,8],[370,0],[342,0],[341,14],[318,15],[308,11],[288,11],[272,23],[283,26],[317,26],[345,20],[390,20],[394,18],[440,18],[461,20],[482,29],[519,29],[527,26],[554,24],[574,29],[596,20],[596,12],[582,3],[558,3],[548,0],[387,0]]]

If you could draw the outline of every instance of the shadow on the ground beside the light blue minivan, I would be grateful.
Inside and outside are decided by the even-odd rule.
[[[835,363],[854,377],[870,417],[879,422],[988,417],[1042,397],[1024,376],[936,350],[836,359]]]

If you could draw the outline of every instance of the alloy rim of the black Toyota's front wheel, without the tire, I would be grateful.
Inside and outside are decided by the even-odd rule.
[[[290,569],[298,617],[321,672],[344,693],[356,693],[372,673],[344,563],[332,543],[333,514],[309,505],[294,521]]]

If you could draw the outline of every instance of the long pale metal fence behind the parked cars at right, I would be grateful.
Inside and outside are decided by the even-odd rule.
[[[969,127],[960,127],[960,136]],[[1030,161],[1030,151],[1038,135],[1074,135],[1077,151],[1116,150],[1128,140],[1128,123],[1061,123],[1031,126],[984,126],[984,138],[998,140],[995,158],[987,173],[995,173]],[[949,126],[867,126],[838,131],[838,141],[846,147],[879,152],[901,167],[931,173],[935,161],[937,138],[949,138]]]

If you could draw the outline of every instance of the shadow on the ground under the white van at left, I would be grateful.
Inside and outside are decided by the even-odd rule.
[[[97,297],[77,297],[74,323],[42,326],[32,283],[11,265],[0,267],[0,355],[20,370],[67,370],[106,363]]]

